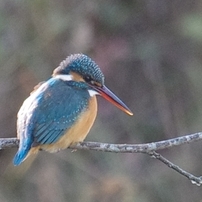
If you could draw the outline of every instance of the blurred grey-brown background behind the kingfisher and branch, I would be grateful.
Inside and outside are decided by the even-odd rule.
[[[72,53],[101,67],[134,112],[98,98],[87,141],[147,143],[202,131],[202,1],[0,1],[0,137],[33,87]],[[0,151],[0,201],[190,202],[201,188],[143,154],[40,152],[14,167]],[[161,151],[202,175],[201,143]]]

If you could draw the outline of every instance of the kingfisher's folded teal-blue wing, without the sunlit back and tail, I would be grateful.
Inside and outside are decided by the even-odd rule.
[[[88,106],[88,91],[73,88],[66,82],[51,79],[39,96],[32,119],[34,142],[51,144],[68,130]]]

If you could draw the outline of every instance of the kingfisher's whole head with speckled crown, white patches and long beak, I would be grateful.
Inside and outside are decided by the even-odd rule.
[[[98,65],[84,54],[74,54],[63,60],[53,71],[53,77],[87,84],[90,96],[101,95],[129,115],[131,110],[104,85],[104,75]]]

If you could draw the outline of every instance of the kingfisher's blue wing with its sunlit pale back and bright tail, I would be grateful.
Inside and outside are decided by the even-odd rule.
[[[25,100],[18,113],[20,147],[14,164],[20,164],[32,146],[51,144],[74,124],[89,102],[87,90],[51,78]]]

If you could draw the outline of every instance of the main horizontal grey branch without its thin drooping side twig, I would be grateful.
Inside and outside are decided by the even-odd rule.
[[[146,144],[109,144],[100,142],[81,142],[70,146],[69,148],[115,153],[146,153],[149,151],[158,151],[173,146],[188,144],[199,140],[202,140],[202,132]],[[19,140],[17,138],[0,138],[0,149],[17,147],[18,144]]]

